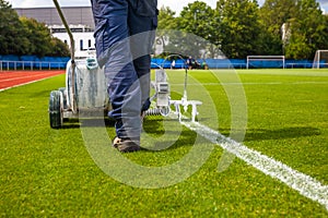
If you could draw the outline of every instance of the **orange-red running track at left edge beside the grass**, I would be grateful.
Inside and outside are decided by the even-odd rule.
[[[63,73],[65,71],[0,71],[0,90]]]

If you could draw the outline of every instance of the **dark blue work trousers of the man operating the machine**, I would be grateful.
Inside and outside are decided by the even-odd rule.
[[[156,0],[91,0],[98,64],[108,84],[116,134],[139,138],[140,113],[150,92]]]

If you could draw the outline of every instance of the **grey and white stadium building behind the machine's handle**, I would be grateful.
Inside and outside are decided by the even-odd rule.
[[[94,48],[94,20],[91,7],[63,7],[62,13],[72,31],[75,41],[75,51]],[[56,8],[15,8],[20,16],[35,19],[45,23],[52,36],[70,46],[69,36],[58,15]]]

